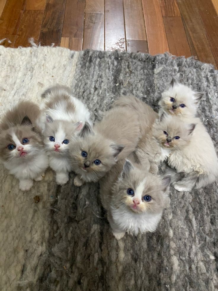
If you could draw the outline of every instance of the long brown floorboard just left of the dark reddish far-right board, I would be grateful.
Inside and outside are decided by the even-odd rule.
[[[177,2],[199,60],[216,66],[196,3],[189,0],[177,0]]]

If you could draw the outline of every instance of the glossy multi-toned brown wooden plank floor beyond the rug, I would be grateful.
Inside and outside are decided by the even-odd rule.
[[[0,39],[155,55],[218,66],[218,0],[0,0]]]

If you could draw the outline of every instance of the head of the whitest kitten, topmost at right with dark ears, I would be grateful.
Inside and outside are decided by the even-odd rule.
[[[162,93],[159,101],[161,106],[160,112],[163,110],[170,115],[179,115],[181,117],[195,117],[198,102],[204,93],[194,92],[191,88],[179,84],[176,79],[172,79],[168,90]]]

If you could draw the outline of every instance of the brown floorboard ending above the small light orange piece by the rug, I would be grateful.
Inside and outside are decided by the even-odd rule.
[[[83,37],[85,0],[67,0],[62,37]]]

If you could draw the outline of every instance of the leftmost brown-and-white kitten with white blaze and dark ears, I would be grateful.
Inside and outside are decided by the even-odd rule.
[[[19,179],[19,187],[28,191],[33,179],[40,181],[48,158],[40,134],[39,107],[22,101],[3,117],[0,125],[0,159],[10,174]]]

